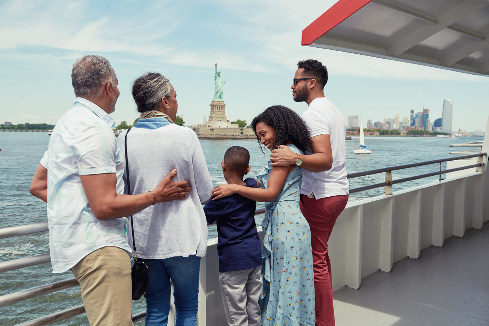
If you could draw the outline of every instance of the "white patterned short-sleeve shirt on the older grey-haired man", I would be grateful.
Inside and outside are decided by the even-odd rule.
[[[62,273],[106,246],[130,252],[124,218],[99,220],[90,208],[80,175],[116,174],[124,193],[124,162],[114,120],[87,99],[77,97],[56,123],[41,165],[47,169],[47,220],[53,273]],[[128,257],[129,259],[129,257]]]

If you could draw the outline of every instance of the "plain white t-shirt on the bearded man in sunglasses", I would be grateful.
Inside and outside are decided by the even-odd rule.
[[[322,134],[330,135],[333,165],[325,172],[315,173],[302,169],[304,178],[301,194],[310,196],[313,193],[316,199],[348,195],[350,186],[346,178],[346,131],[343,114],[326,97],[319,97],[312,100],[302,118],[310,128],[311,138]],[[310,155],[312,151],[308,150],[306,154]]]

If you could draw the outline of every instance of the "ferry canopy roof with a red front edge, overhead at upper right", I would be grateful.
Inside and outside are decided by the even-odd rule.
[[[302,45],[489,75],[488,0],[339,0]]]

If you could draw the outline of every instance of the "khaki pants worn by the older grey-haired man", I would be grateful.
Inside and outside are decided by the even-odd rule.
[[[81,285],[90,326],[133,326],[131,262],[124,249],[97,249],[70,270]]]

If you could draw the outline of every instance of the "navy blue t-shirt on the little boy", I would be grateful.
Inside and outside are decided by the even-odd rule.
[[[244,180],[257,188],[256,180]],[[262,264],[262,244],[255,224],[256,201],[238,194],[209,199],[204,207],[207,223],[216,222],[219,272],[239,271]]]

